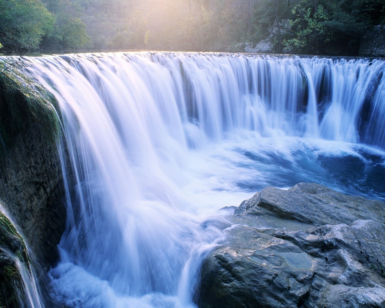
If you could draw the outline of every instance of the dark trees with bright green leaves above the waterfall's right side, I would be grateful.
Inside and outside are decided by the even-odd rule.
[[[288,52],[354,54],[370,21],[360,9],[364,0],[301,0],[292,10],[292,35],[283,44]],[[369,1],[369,0],[365,0]],[[316,12],[314,5],[318,2]]]

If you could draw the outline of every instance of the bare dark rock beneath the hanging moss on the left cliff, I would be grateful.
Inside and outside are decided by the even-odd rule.
[[[63,178],[57,149],[38,125],[26,126],[3,160],[3,206],[14,219],[37,263],[58,259],[65,229]]]

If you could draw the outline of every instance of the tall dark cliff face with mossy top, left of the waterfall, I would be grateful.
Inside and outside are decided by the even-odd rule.
[[[16,59],[0,57],[0,199],[40,275],[57,261],[65,230],[60,114],[55,97],[20,73]]]

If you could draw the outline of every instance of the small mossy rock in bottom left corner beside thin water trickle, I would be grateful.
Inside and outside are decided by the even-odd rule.
[[[0,213],[0,307],[26,306],[17,259],[27,269],[28,275],[31,275],[27,247],[11,221]]]

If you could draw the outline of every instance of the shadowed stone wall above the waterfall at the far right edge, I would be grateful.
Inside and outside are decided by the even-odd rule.
[[[385,25],[378,25],[367,31],[361,40],[359,55],[385,57]]]

